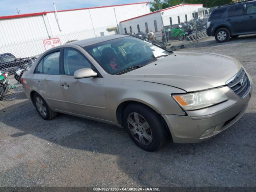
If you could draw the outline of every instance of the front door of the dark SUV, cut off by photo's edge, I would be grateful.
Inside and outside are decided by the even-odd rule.
[[[245,27],[246,31],[256,33],[256,2],[246,4]]]

